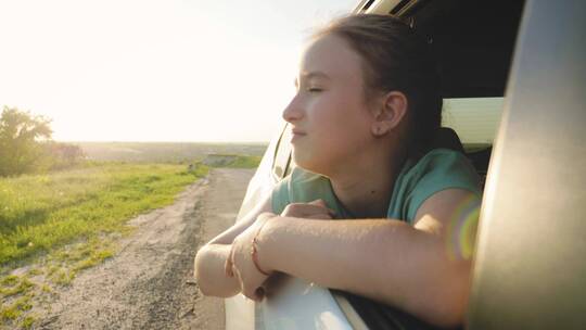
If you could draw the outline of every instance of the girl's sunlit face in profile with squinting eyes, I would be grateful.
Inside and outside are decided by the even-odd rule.
[[[283,112],[295,163],[323,175],[352,166],[373,139],[360,56],[344,39],[321,37],[302,55],[295,84],[297,93]]]

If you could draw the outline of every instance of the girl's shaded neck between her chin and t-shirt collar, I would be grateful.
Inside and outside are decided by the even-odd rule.
[[[362,154],[330,176],[333,191],[356,218],[386,217],[404,157],[388,152]]]

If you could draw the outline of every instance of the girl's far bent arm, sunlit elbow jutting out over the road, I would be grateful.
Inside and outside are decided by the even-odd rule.
[[[270,212],[271,199],[263,200],[240,221],[203,245],[195,255],[194,275],[200,290],[205,295],[229,297],[240,292],[240,283],[233,277],[226,276],[225,264],[230,254],[231,243],[237,236],[256,221],[258,215]]]

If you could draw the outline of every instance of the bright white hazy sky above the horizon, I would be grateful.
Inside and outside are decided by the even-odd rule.
[[[58,141],[267,142],[313,27],[358,0],[0,0],[0,107]]]

